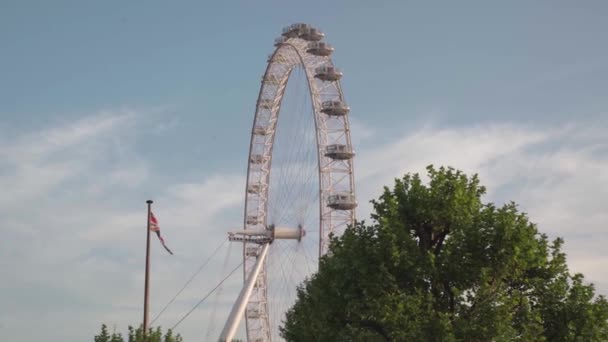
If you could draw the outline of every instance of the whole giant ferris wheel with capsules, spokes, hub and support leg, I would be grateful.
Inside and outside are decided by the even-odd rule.
[[[330,235],[355,219],[347,106],[334,48],[308,24],[275,40],[258,95],[249,148],[243,242],[244,286],[220,340],[241,317],[248,341],[279,340],[296,287],[316,271]]]

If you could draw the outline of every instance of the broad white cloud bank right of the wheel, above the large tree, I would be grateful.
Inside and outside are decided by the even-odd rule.
[[[360,150],[358,217],[369,217],[367,201],[383,185],[408,172],[425,174],[429,164],[478,173],[488,187],[487,200],[515,201],[541,232],[564,237],[572,270],[584,272],[608,294],[608,275],[593,261],[608,258],[603,247],[608,243],[607,128],[605,120],[558,127],[423,126],[397,141]]]

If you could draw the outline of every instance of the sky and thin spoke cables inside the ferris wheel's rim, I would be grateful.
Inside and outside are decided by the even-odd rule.
[[[303,88],[306,85],[305,70],[295,68],[278,114],[268,214],[272,223],[294,227],[301,224],[314,230],[319,224],[319,216],[311,211],[319,203],[319,151],[315,111],[308,89]],[[297,252],[300,243],[300,247],[304,247],[316,242],[316,239],[307,239],[298,243],[275,241],[269,251],[269,260],[276,261],[272,266],[267,265],[269,323],[273,339],[279,337],[277,327],[285,311],[293,305],[297,284],[311,273],[305,255]]]

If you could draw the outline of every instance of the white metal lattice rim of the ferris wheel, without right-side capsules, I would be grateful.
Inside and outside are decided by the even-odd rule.
[[[299,27],[297,25],[303,24],[294,24],[291,27]],[[284,32],[289,32],[289,28]],[[276,41],[277,48],[269,57],[256,103],[249,147],[243,224],[245,230],[262,230],[270,224],[266,220],[275,129],[289,76],[295,67],[300,66],[306,73],[315,116],[320,185],[319,256],[322,256],[327,252],[330,234],[340,234],[355,219],[354,208],[339,210],[327,206],[329,196],[332,194],[350,194],[352,198],[355,195],[352,158],[332,159],[325,156],[328,145],[340,144],[345,145],[350,151],[353,150],[350,126],[348,115],[330,116],[321,111],[322,103],[325,101],[344,102],[339,80],[323,81],[315,78],[317,68],[333,67],[331,57],[309,53],[311,42],[300,38],[297,32],[284,36]],[[272,335],[267,300],[266,262],[259,260],[263,259],[262,255],[265,256],[266,248],[267,245],[264,244],[247,241],[243,243],[244,278],[247,280],[248,276],[258,274],[257,281],[254,282],[255,286],[248,291],[249,296],[244,310],[248,341],[270,341]],[[261,266],[258,261],[261,262]],[[252,273],[254,271],[257,272]]]

